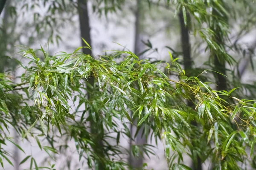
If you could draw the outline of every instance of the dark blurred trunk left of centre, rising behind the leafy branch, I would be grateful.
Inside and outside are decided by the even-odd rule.
[[[79,11],[79,22],[80,22],[80,31],[81,31],[81,37],[84,38],[84,40],[91,45],[91,37],[90,37],[90,20],[89,20],[89,15],[88,15],[88,2],[87,0],[78,0],[78,11]],[[87,46],[83,40],[81,40],[82,46],[85,47]],[[89,54],[92,55],[92,51],[88,48],[82,48],[83,53],[84,54]],[[90,79],[88,79],[87,81],[89,84],[87,84],[87,89],[89,89],[88,91],[93,91],[93,87],[94,87],[94,77],[90,77]],[[90,101],[91,100],[91,96],[90,94],[87,94],[87,98]],[[89,111],[90,112],[90,111]],[[89,116],[91,116],[92,114],[89,113]],[[99,115],[99,114],[98,114]],[[101,119],[99,116],[96,117],[97,121],[99,122],[99,119]],[[92,119],[91,119],[92,120]],[[103,143],[102,143],[102,139],[103,139],[103,125],[101,125],[101,128],[99,129],[99,127],[96,125],[95,122],[90,121],[90,127],[91,127],[91,133],[93,134],[93,136],[95,136],[95,140],[96,142],[98,142],[97,144],[97,148],[93,148],[93,150],[95,151],[95,153],[97,154],[97,156],[99,156],[99,158],[103,158],[104,157],[104,148],[103,148]],[[97,170],[105,170],[105,166],[102,162],[97,162],[96,164],[96,169]]]

